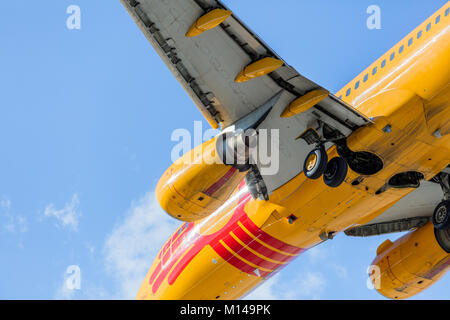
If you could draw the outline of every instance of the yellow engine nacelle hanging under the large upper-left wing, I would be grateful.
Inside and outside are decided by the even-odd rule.
[[[156,187],[161,207],[178,220],[203,219],[222,206],[245,172],[225,165],[211,139],[175,161]]]

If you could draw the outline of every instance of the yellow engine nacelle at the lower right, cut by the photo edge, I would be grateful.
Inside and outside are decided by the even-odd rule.
[[[369,277],[390,299],[405,299],[438,281],[450,267],[450,230],[435,230],[431,222],[377,249]]]

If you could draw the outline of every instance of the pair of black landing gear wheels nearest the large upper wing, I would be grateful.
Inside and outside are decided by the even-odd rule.
[[[307,178],[313,180],[323,176],[323,181],[327,186],[337,188],[347,176],[348,165],[342,157],[335,157],[328,161],[325,147],[319,145],[306,157],[303,172]]]

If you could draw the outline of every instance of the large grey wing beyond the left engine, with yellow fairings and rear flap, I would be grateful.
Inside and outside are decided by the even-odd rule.
[[[294,100],[311,91],[326,97],[311,108],[310,118],[324,121],[344,136],[370,123],[289,66],[220,1],[121,2],[214,128],[234,124],[277,93],[287,92]],[[247,76],[252,79],[246,81]]]

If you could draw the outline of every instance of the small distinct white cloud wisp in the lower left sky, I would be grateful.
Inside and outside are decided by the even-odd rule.
[[[44,216],[46,218],[55,218],[58,227],[78,231],[78,223],[82,215],[78,208],[79,205],[78,194],[74,194],[72,200],[66,203],[62,209],[58,210],[53,203],[49,204],[44,210]]]

